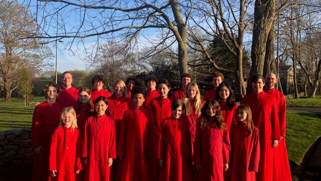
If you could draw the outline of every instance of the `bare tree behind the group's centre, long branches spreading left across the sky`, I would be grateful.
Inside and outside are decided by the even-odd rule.
[[[187,73],[186,35],[191,12],[191,1],[90,1],[69,2],[60,0],[38,0],[35,18],[41,33],[33,37],[53,41],[72,38],[83,42],[83,38],[117,39],[128,46],[135,46],[143,32],[154,34],[154,30],[167,31],[178,47],[180,74]],[[54,30],[54,31],[52,31]],[[97,41],[98,43],[99,41]],[[97,45],[96,47],[99,47]]]

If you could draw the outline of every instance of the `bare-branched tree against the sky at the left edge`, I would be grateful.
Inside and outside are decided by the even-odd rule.
[[[50,54],[37,39],[25,39],[35,34],[37,26],[18,1],[1,1],[0,12],[0,84],[5,88],[4,101],[9,102],[19,85],[19,68],[30,67],[30,74],[40,73]]]

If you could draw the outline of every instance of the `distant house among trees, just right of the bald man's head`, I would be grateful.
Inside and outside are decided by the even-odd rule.
[[[280,66],[279,74],[283,92],[289,93],[289,88],[293,87],[293,66]]]

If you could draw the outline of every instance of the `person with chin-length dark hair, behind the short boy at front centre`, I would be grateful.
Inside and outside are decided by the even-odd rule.
[[[149,102],[149,110],[153,114],[153,156],[150,160],[150,177],[151,180],[157,180],[158,172],[158,158],[160,155],[160,141],[161,141],[161,122],[167,117],[171,117],[171,103],[172,99],[170,98],[171,84],[168,80],[163,79],[158,82],[158,93],[159,96],[151,99]]]

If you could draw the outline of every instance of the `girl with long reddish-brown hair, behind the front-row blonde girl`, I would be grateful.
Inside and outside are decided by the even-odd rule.
[[[90,90],[87,87],[79,89],[78,100],[76,103],[77,126],[82,134],[88,117],[92,116],[93,103],[91,101]]]

